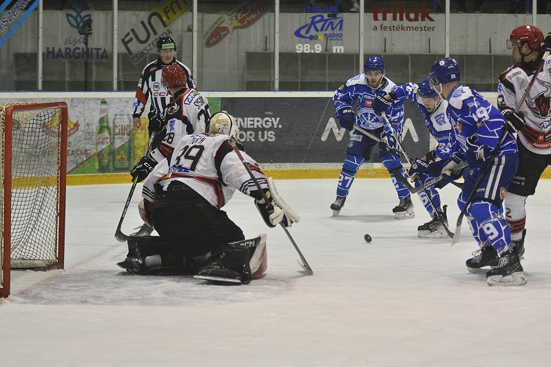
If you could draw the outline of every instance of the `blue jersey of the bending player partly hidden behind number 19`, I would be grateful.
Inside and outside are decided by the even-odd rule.
[[[417,95],[419,86],[415,83],[406,83],[397,87],[394,92],[399,100],[408,98],[408,100],[417,104],[425,116],[425,126],[430,132],[438,145],[435,153],[438,160],[446,160],[452,156],[457,149],[457,140],[455,139],[455,129],[453,123],[448,118],[446,110],[448,109],[448,101],[441,99],[438,107],[433,112],[428,112],[423,105],[423,100]]]

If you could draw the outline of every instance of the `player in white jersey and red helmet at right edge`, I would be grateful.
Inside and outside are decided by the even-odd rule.
[[[515,63],[499,76],[497,105],[510,130],[518,133],[520,161],[503,205],[514,250],[522,258],[526,237],[526,198],[534,195],[543,170],[551,164],[551,56],[542,61],[544,51],[551,50],[551,34],[544,41],[539,28],[521,25],[511,32],[508,46],[512,49]],[[526,86],[542,62],[545,63],[543,70],[516,112]]]

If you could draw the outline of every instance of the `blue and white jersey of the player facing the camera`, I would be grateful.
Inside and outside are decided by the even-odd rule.
[[[353,108],[357,102],[355,124],[366,130],[377,129],[385,125],[384,120],[375,114],[372,103],[377,94],[385,96],[396,88],[395,83],[383,76],[381,85],[372,88],[366,80],[365,74],[358,74],[350,78],[346,83],[338,87],[333,95],[335,103],[335,115],[339,118],[338,111],[344,107]],[[397,132],[402,132],[402,121],[404,120],[404,101],[393,103],[386,112],[386,118],[393,124]]]

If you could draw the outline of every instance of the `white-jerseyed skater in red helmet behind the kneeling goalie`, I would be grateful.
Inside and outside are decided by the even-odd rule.
[[[186,75],[180,66],[165,67],[162,76],[163,86],[170,92],[172,101],[163,112],[163,122],[153,140],[151,154],[143,157],[130,171],[138,182],[170,154],[183,136],[205,132],[210,118],[209,101],[186,86]]]

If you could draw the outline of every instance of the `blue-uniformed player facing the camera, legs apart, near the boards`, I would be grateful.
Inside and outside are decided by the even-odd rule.
[[[346,146],[346,158],[344,158],[344,165],[337,185],[337,198],[331,204],[333,216],[338,216],[346,196],[349,194],[357,170],[364,160],[370,158],[371,148],[377,144],[377,141],[353,129],[354,125],[367,130],[377,138],[387,141],[387,143],[379,143],[379,151],[381,162],[388,171],[402,165],[399,155],[391,149],[397,147],[394,136],[402,136],[404,102],[392,103],[388,109],[387,116],[393,131],[391,131],[391,127],[385,124],[381,116],[375,114],[372,107],[373,100],[377,96],[384,96],[395,87],[395,83],[384,76],[383,59],[380,56],[369,56],[364,63],[364,74],[354,76],[335,91],[333,96],[335,115],[340,126],[351,132],[351,137],[349,144]],[[356,104],[357,112],[354,113],[353,107]],[[405,176],[406,172],[401,168],[399,174]],[[391,173],[391,177],[400,200],[399,204],[393,209],[395,218],[414,218],[413,202],[411,202],[408,189],[395,178],[393,173]]]

